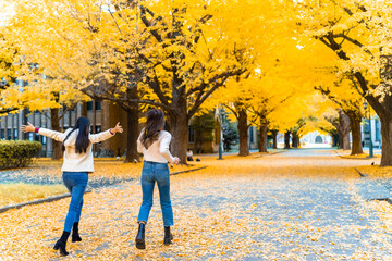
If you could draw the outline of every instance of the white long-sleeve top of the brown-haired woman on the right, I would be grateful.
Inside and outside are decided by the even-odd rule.
[[[143,160],[159,163],[174,163],[174,157],[169,150],[169,145],[172,138],[171,134],[166,130],[161,130],[159,133],[158,140],[152,142],[150,147],[146,149],[140,141],[144,129],[137,139],[137,152],[143,153]]]

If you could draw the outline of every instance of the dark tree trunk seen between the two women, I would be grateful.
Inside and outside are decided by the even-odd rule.
[[[137,88],[131,88],[127,90],[127,96],[131,99],[138,99]],[[124,162],[134,162],[139,161],[139,156],[137,153],[137,138],[139,135],[139,123],[138,123],[138,113],[139,105],[135,102],[128,102],[128,108],[126,110],[127,116],[127,129],[126,129],[126,156]]]

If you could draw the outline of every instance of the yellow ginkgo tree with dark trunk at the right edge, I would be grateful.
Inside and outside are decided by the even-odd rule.
[[[392,91],[390,1],[319,1],[292,3],[298,33],[332,50],[340,71],[354,76],[358,92],[381,121],[381,165],[392,165]]]

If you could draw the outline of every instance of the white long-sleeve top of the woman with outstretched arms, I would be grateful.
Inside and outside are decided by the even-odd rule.
[[[54,132],[47,128],[39,128],[38,134],[52,138],[57,141],[63,142],[68,134],[72,128],[66,129],[64,133]],[[94,156],[93,144],[97,144],[113,137],[114,134],[110,133],[110,129],[99,133],[89,134],[88,139],[90,141],[85,153],[76,153],[76,138],[78,129],[73,132],[65,140],[64,161],[61,167],[63,172],[94,172]]]

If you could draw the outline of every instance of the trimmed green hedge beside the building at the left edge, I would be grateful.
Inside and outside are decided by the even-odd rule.
[[[27,166],[41,149],[42,145],[38,141],[1,140],[0,169]]]

